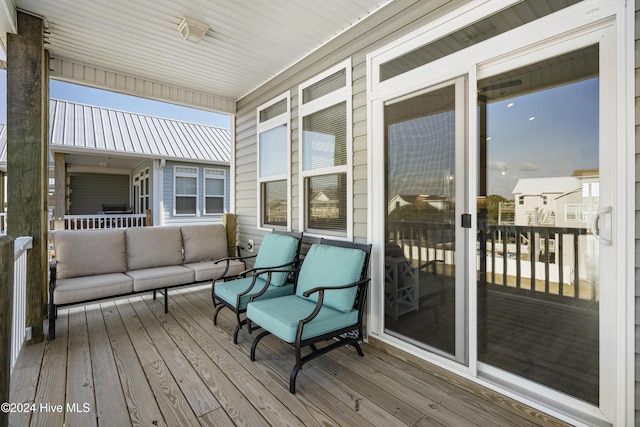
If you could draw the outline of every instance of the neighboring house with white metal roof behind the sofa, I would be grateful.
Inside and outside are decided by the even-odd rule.
[[[61,100],[49,112],[50,176],[64,168],[65,214],[150,209],[161,225],[218,222],[229,212],[228,129]],[[0,137],[3,154],[4,125]]]

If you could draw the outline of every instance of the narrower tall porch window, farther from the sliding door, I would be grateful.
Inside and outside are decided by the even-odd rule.
[[[264,228],[289,228],[289,94],[258,107],[258,218]]]

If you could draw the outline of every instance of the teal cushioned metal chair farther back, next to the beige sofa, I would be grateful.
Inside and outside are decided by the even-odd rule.
[[[238,343],[238,333],[247,319],[242,314],[247,310],[251,298],[268,299],[291,295],[295,292],[293,283],[288,281],[288,271],[272,271],[274,269],[295,269],[300,255],[302,233],[273,231],[264,236],[257,255],[244,257],[255,258],[253,268],[240,273],[235,280],[213,284],[211,297],[216,307],[213,324],[218,323],[218,313],[228,307],[236,314],[237,324],[233,332],[233,342]],[[263,270],[269,271],[262,273]],[[251,329],[249,328],[249,332]]]

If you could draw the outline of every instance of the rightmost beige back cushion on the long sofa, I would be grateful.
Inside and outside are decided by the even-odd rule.
[[[227,230],[224,224],[198,224],[180,227],[184,262],[215,261],[226,257]]]

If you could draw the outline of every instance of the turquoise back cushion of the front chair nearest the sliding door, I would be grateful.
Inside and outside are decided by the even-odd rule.
[[[342,286],[360,280],[365,253],[359,249],[329,245],[312,245],[307,252],[298,276],[296,295],[318,286]],[[353,309],[357,288],[329,290],[324,293],[323,305],[348,312]],[[318,300],[318,293],[309,296]]]

